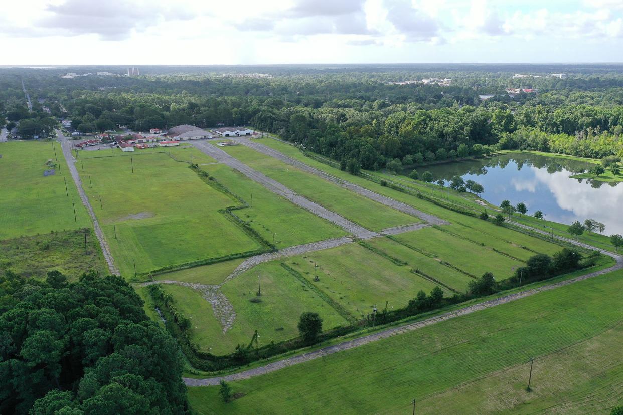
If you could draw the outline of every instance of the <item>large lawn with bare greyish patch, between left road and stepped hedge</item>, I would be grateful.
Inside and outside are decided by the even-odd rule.
[[[141,273],[259,247],[218,212],[233,205],[232,200],[167,154],[80,163],[85,192],[126,277],[133,275],[133,261]]]

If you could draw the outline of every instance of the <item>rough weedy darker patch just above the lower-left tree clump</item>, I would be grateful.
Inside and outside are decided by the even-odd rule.
[[[87,229],[87,254],[84,230],[60,231],[0,241],[0,273],[11,269],[25,277],[44,278],[57,270],[70,280],[95,269],[108,273],[100,245],[93,231]]]

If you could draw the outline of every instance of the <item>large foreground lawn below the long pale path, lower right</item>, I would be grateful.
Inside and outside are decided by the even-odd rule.
[[[244,393],[232,403],[222,403],[217,386],[188,388],[189,401],[198,414],[410,413],[412,399],[422,413],[455,413],[457,408],[461,413],[500,413],[510,409],[530,412],[529,401],[540,411],[561,401],[584,405],[599,396],[604,399],[591,400],[592,410],[578,411],[570,405],[569,412],[607,414],[621,401],[622,277],[623,271],[616,271],[231,382],[234,393]],[[567,359],[549,357],[558,352],[564,357],[571,353],[564,349],[574,345],[579,348],[573,350],[580,351],[573,365]],[[587,346],[584,353],[582,345]],[[599,357],[592,357],[594,353],[616,356],[600,363]],[[526,393],[531,357],[536,358],[535,393]],[[509,368],[523,376],[500,377],[500,383],[490,378],[482,389],[459,387]],[[556,373],[556,381],[549,382],[547,376]],[[598,377],[591,378],[591,373]],[[435,399],[441,393],[448,394]],[[473,400],[479,402],[471,411]],[[465,406],[459,406],[460,402]],[[559,412],[568,412],[565,409]]]

